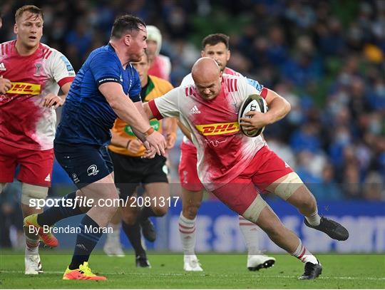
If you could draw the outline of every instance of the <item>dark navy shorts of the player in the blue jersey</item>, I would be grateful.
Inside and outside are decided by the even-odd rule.
[[[78,189],[113,172],[113,162],[105,146],[53,143],[56,160]]]

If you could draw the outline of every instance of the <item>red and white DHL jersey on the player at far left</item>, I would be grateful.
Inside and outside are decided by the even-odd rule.
[[[53,147],[56,112],[43,108],[43,97],[58,94],[73,81],[75,71],[56,49],[40,43],[31,56],[20,56],[16,41],[0,45],[0,76],[12,83],[0,95],[0,140],[14,147],[48,150]]]

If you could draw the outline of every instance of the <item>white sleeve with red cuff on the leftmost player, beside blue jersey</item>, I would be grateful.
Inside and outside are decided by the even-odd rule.
[[[50,75],[51,78],[62,87],[66,83],[73,81],[73,78],[75,78],[75,71],[63,53],[56,51],[56,49],[53,48],[51,48],[51,50],[51,56],[48,58]]]

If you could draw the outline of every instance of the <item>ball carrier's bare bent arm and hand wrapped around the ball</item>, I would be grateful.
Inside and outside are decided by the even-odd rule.
[[[248,126],[250,127],[250,130],[263,128],[266,125],[281,120],[287,113],[289,113],[291,108],[290,103],[275,93],[274,90],[269,90],[268,88],[263,88],[263,90],[266,90],[265,100],[269,107],[267,113],[250,111],[249,113],[246,113],[246,115],[252,116],[252,118],[240,118],[240,125]]]

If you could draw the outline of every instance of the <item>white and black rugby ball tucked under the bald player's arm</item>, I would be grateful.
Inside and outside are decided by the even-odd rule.
[[[240,118],[251,118],[251,116],[245,115],[250,111],[266,113],[267,110],[267,103],[264,98],[262,98],[260,95],[249,95],[247,98],[245,98],[242,105],[240,106],[240,111],[238,113],[238,123],[240,123]],[[252,131],[246,131],[243,126],[240,125],[240,130],[247,137],[257,137],[263,132],[263,130],[265,130],[265,127]]]

